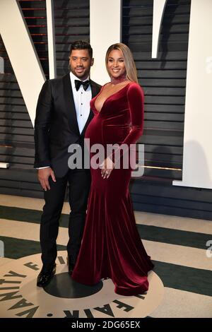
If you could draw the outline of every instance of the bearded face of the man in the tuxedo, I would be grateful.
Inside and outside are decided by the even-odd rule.
[[[71,73],[85,80],[90,73],[90,66],[93,66],[93,59],[90,58],[88,49],[73,49],[69,57]]]

